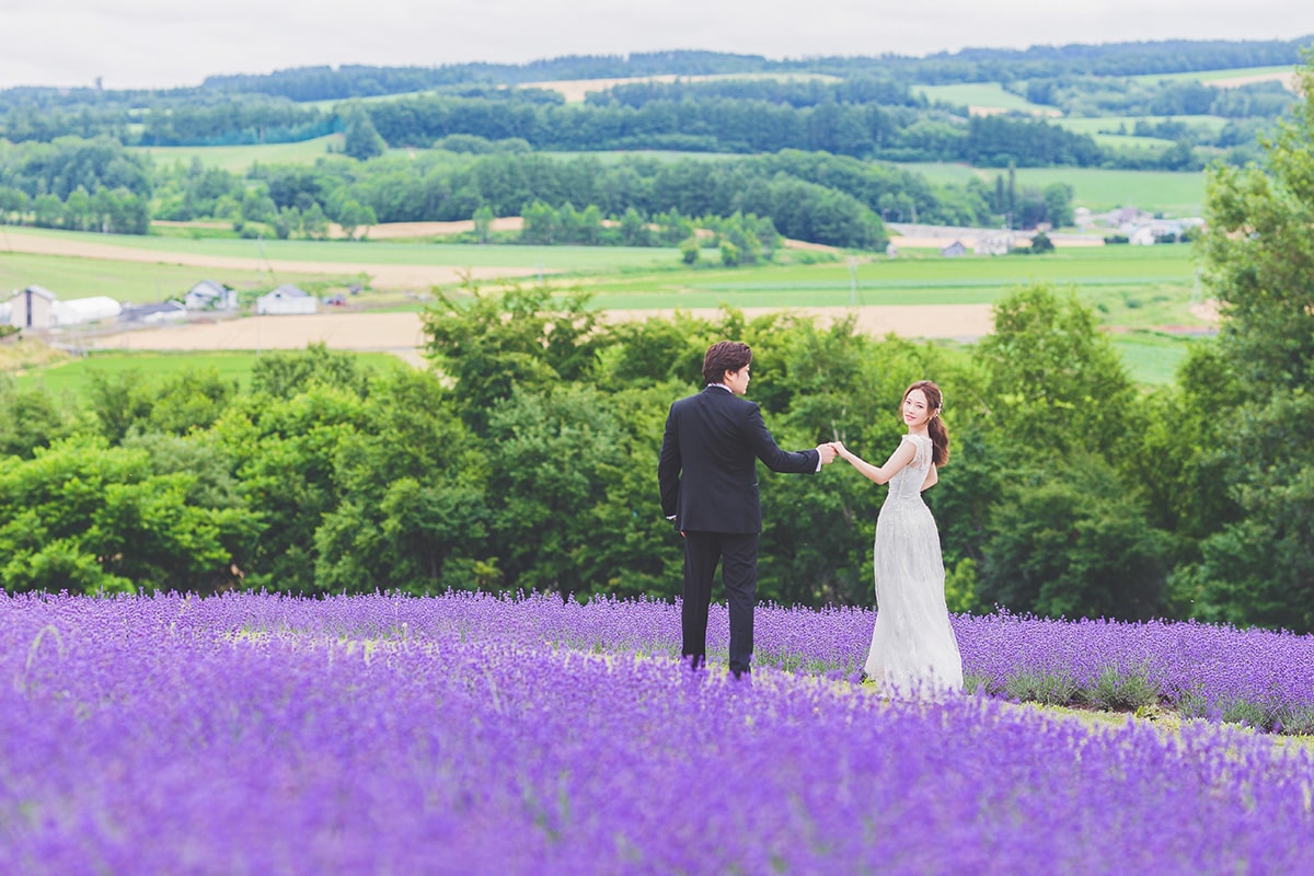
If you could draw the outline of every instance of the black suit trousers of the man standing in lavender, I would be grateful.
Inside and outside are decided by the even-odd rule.
[[[681,612],[683,654],[698,666],[707,657],[707,609],[712,579],[721,582],[731,613],[731,671],[749,671],[753,661],[753,605],[757,602],[757,533],[686,532],[685,602]]]

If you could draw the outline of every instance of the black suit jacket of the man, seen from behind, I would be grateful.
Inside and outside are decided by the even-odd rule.
[[[782,450],[757,402],[719,386],[670,406],[657,461],[661,510],[681,532],[757,533],[757,460],[773,471],[811,474],[819,454]]]

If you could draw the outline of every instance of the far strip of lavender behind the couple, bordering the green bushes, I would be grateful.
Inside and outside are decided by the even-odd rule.
[[[21,612],[26,598],[9,600]],[[39,599],[39,598],[35,598]],[[553,596],[443,598],[376,595],[322,602],[230,594],[133,600],[135,624],[209,636],[298,630],[326,637],[491,640],[526,647],[552,645],[606,653],[674,655],[678,604],[594,599],[586,605]],[[121,615],[113,603],[42,602],[42,612]],[[758,666],[855,680],[870,644],[874,612],[761,607]],[[1013,615],[953,619],[968,684],[992,695],[1049,703],[1105,697],[1105,705],[1163,701],[1190,717],[1243,721],[1263,729],[1314,733],[1314,637],[1239,630],[1196,623],[1055,621]],[[708,645],[728,646],[728,619],[714,605]]]

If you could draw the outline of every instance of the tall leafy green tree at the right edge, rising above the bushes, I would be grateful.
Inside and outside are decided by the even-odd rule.
[[[1198,580],[1215,617],[1305,632],[1314,629],[1314,70],[1298,79],[1305,100],[1264,143],[1264,167],[1209,177],[1206,276],[1226,314],[1222,365],[1238,387],[1222,411],[1221,479],[1240,515],[1204,542]]]

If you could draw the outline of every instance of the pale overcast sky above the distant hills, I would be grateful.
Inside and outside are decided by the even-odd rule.
[[[17,7],[22,8],[17,8]],[[1294,39],[1309,0],[0,0],[0,88],[196,85],[310,64],[434,67],[706,49],[805,58]]]

